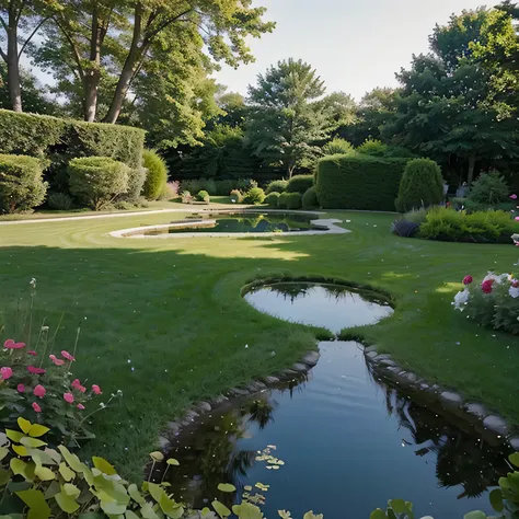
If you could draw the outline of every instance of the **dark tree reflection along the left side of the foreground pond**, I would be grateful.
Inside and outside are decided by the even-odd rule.
[[[178,447],[168,454],[177,459],[180,466],[168,471],[165,476],[174,496],[203,507],[204,499],[212,500],[218,495],[219,500],[231,506],[235,496],[220,493],[217,487],[220,483],[232,483],[240,488],[239,478],[254,464],[256,451],[240,449],[238,441],[246,438],[250,424],[257,423],[261,429],[266,427],[273,420],[276,405],[265,393],[180,436]]]

